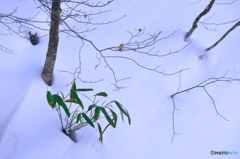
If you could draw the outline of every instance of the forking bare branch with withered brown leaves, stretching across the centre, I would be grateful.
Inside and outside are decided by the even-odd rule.
[[[144,51],[141,51],[143,49],[146,49],[148,47],[152,47],[154,44],[156,44],[157,42],[159,42],[160,40],[164,40],[164,39],[167,39],[171,36],[173,36],[177,31],[174,31],[172,34],[166,36],[166,37],[163,37],[163,38],[159,38],[159,35],[161,34],[161,32],[158,32],[157,34],[153,34],[153,35],[148,35],[149,37],[144,39],[144,40],[141,40],[141,41],[137,41],[135,40],[136,38],[139,38],[140,36],[142,36],[144,34],[144,29],[135,29],[137,30],[137,33],[136,34],[133,34],[131,32],[128,32],[131,37],[129,38],[129,40],[126,42],[126,43],[122,43],[120,44],[119,46],[113,46],[113,47],[107,47],[107,48],[103,48],[103,49],[100,49],[98,48],[91,40],[83,37],[82,35],[80,35],[76,30],[74,30],[72,27],[70,27],[68,25],[68,23],[66,21],[63,21],[63,23],[67,26],[68,30],[70,31],[71,34],[74,34],[74,37],[77,37],[79,38],[82,43],[84,44],[84,42],[88,42],[90,43],[93,48],[99,53],[100,55],[100,58],[99,59],[102,59],[104,61],[104,63],[107,65],[108,69],[112,72],[113,74],[113,79],[115,81],[115,83],[113,84],[114,86],[116,86],[116,90],[119,90],[119,88],[124,88],[124,87],[120,87],[118,86],[118,82],[119,81],[122,81],[123,79],[129,79],[129,78],[123,78],[123,79],[118,79],[117,76],[116,76],[116,73],[114,71],[114,69],[112,68],[112,66],[109,64],[109,62],[107,61],[107,58],[118,58],[118,59],[125,59],[125,60],[129,60],[129,61],[132,61],[133,63],[135,63],[137,66],[143,68],[143,69],[146,69],[146,70],[149,70],[149,71],[154,71],[156,73],[160,73],[162,75],[174,75],[176,73],[179,73],[181,71],[185,71],[185,70],[188,70],[188,69],[181,69],[177,72],[174,72],[174,73],[164,73],[164,70],[163,71],[159,71],[157,70],[157,68],[159,66],[157,66],[156,68],[148,68],[144,65],[141,65],[139,64],[136,60],[132,59],[132,58],[129,58],[129,57],[124,57],[124,56],[106,56],[104,55],[103,52],[105,51],[134,51],[134,52],[137,52],[137,53],[142,53],[142,54],[145,54],[145,55],[150,55],[149,51],[148,52],[144,52]],[[71,35],[73,36],[73,35]],[[189,44],[188,44],[189,45]],[[173,54],[173,53],[178,53],[180,51],[182,51],[184,48],[186,48],[188,45],[186,45],[185,47],[183,47],[182,49],[180,50],[176,50],[174,52],[171,52],[168,53],[168,55],[170,54]],[[151,55],[151,56],[167,56],[166,55]],[[99,60],[100,61],[100,60]],[[100,65],[100,63],[99,63]]]

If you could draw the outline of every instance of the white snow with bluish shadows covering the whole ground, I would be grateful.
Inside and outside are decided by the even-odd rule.
[[[239,18],[240,1],[233,4],[227,0],[218,0],[211,12],[201,21],[224,23]],[[106,9],[109,13],[98,15],[95,21],[109,21],[126,15],[120,21],[100,25],[98,29],[86,33],[99,48],[119,46],[129,39],[126,31],[145,28],[147,33],[162,31],[166,40],[155,45],[156,50],[166,54],[170,50],[179,50],[189,42],[191,44],[179,53],[161,58],[149,58],[132,52],[106,52],[105,54],[134,57],[139,63],[150,68],[161,64],[160,70],[172,73],[187,69],[179,74],[163,76],[153,71],[144,70],[131,61],[108,59],[119,82],[126,88],[114,91],[113,74],[103,61],[98,64],[96,50],[85,43],[82,52],[81,78],[87,81],[104,79],[98,83],[77,81],[79,88],[93,88],[95,92],[108,93],[107,101],[117,100],[129,111],[132,124],[119,121],[117,128],[109,128],[104,133],[103,144],[98,141],[98,132],[91,127],[77,131],[78,142],[72,142],[61,132],[58,115],[48,106],[46,92],[66,92],[79,65],[79,47],[81,41],[60,34],[58,57],[54,72],[54,85],[48,87],[41,79],[48,36],[41,38],[38,45],[22,39],[16,34],[1,35],[0,44],[14,49],[13,54],[0,52],[0,158],[1,159],[238,159],[239,155],[210,155],[210,151],[236,151],[240,153],[240,83],[224,83],[207,86],[208,92],[216,101],[221,115],[216,111],[211,99],[203,89],[197,88],[175,96],[175,130],[173,142],[173,104],[170,96],[178,90],[198,85],[210,77],[240,78],[240,29],[236,28],[219,45],[209,52],[204,50],[216,42],[234,23],[210,25],[215,31],[205,29],[201,24],[184,41],[184,35],[190,29],[193,20],[207,6],[209,1],[201,0],[121,0],[114,1]],[[1,12],[9,13],[18,7],[18,15],[28,17],[38,12],[37,4],[32,0],[1,2]],[[89,8],[89,11],[91,11]],[[99,10],[99,8],[96,8]],[[44,14],[38,18],[44,19]],[[74,25],[74,24],[73,24]],[[47,27],[47,26],[42,26]],[[64,25],[60,27],[64,28]],[[88,27],[88,26],[85,26]],[[96,26],[93,26],[96,27]],[[0,25],[1,34],[8,34],[6,27]],[[37,31],[40,36],[46,34]],[[26,35],[22,35],[27,37]],[[145,34],[143,38],[146,38]],[[203,57],[199,59],[199,56]],[[92,95],[91,93],[88,95]],[[84,101],[85,102],[85,101]],[[102,121],[105,122],[104,120]]]

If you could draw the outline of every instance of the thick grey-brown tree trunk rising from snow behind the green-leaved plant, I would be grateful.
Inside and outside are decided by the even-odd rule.
[[[53,0],[52,9],[51,9],[51,26],[50,26],[50,34],[49,34],[49,43],[48,43],[48,51],[46,55],[46,61],[42,72],[42,78],[44,82],[51,86],[52,85],[52,77],[54,65],[57,57],[57,49],[58,49],[58,30],[59,30],[59,14],[61,12],[60,9],[61,0]]]

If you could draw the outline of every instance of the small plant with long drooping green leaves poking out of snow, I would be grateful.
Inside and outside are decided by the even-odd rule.
[[[118,116],[116,112],[113,111],[113,106],[116,106],[119,109],[122,120],[124,121],[124,116],[126,116],[128,118],[129,125],[131,124],[131,118],[127,109],[118,101],[113,100],[107,104],[104,104],[105,102],[103,102],[102,105],[98,105],[98,101],[96,101],[97,96],[107,97],[107,93],[105,92],[95,94],[92,104],[85,109],[82,100],[78,96],[80,92],[85,91],[93,91],[93,89],[77,89],[74,81],[70,89],[70,93],[66,96],[64,96],[62,92],[60,92],[61,95],[52,95],[50,91],[47,92],[48,104],[57,111],[63,133],[69,136],[74,142],[77,142],[74,135],[75,131],[87,125],[98,129],[100,135],[99,140],[102,142],[103,133],[106,129],[110,125],[114,128],[117,125]],[[108,122],[104,129],[102,129],[102,126],[99,123],[99,119],[102,118],[105,118]]]

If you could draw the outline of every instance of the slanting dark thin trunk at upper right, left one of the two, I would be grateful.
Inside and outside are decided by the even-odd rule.
[[[192,35],[192,33],[194,32],[194,30],[198,27],[197,23],[200,20],[200,18],[202,18],[202,16],[206,15],[210,9],[212,8],[213,4],[214,4],[215,0],[211,0],[211,2],[208,4],[208,6],[204,9],[204,11],[202,11],[197,18],[194,20],[193,24],[192,24],[192,28],[187,32],[186,36],[185,36],[185,40]]]

